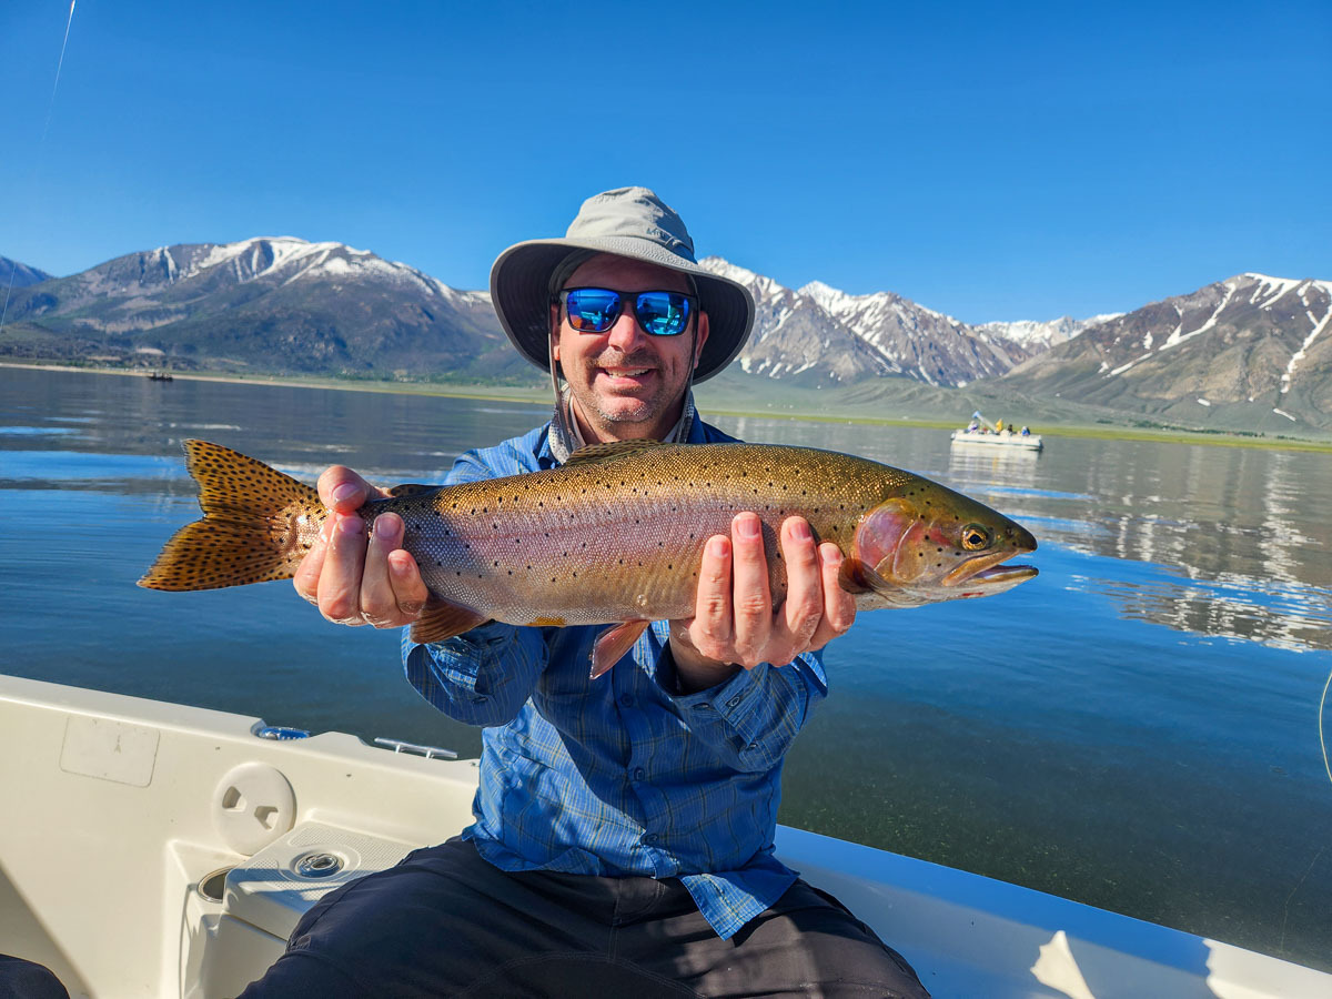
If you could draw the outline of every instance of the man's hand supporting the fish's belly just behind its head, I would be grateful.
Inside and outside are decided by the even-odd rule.
[[[670,629],[686,690],[703,690],[761,662],[783,666],[851,627],[855,598],[838,585],[840,549],[831,542],[815,546],[803,517],[786,518],[781,546],[786,599],[774,609],[758,515],[738,514],[731,537],[709,538],[694,617],[673,621]]]

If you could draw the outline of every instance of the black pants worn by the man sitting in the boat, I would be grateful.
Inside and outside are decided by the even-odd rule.
[[[506,872],[460,839],[326,895],[241,999],[928,999],[835,898],[798,880],[721,939],[677,879]]]

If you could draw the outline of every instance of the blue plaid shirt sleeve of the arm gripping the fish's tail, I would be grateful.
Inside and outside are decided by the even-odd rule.
[[[527,470],[515,468],[513,472]],[[480,482],[509,474],[492,468],[486,453],[466,452],[445,480]],[[518,714],[546,669],[550,653],[541,629],[490,621],[442,642],[420,643],[402,633],[408,682],[454,721],[503,725]]]

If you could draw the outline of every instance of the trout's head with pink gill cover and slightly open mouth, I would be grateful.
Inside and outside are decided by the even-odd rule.
[[[843,586],[891,606],[988,597],[1036,575],[1007,565],[1035,551],[1031,531],[951,489],[912,477],[856,526]]]

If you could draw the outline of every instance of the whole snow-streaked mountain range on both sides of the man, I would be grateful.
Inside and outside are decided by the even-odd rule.
[[[709,257],[754,296],[727,377],[758,394],[966,386],[1183,426],[1332,429],[1332,282],[1239,274],[1130,313],[968,325],[892,292],[799,289]],[[13,276],[0,357],[352,378],[534,382],[488,292],[338,242],[264,237]],[[767,385],[770,389],[763,389]],[[911,386],[916,386],[912,389]],[[958,401],[939,405],[958,409]],[[1050,410],[1048,406],[1044,408]],[[1086,416],[1086,414],[1084,414]]]

